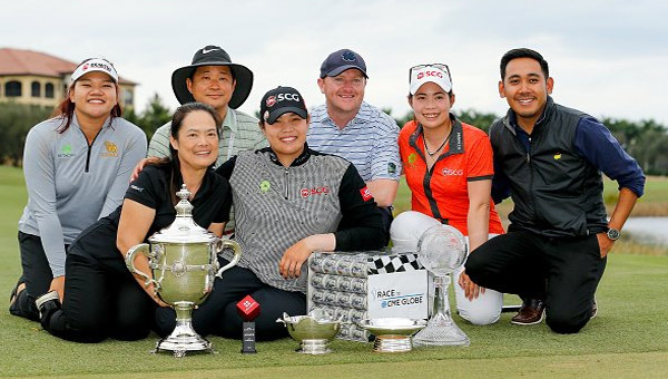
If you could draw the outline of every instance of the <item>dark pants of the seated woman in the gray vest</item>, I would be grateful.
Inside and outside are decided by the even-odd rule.
[[[228,263],[224,259],[218,259],[218,262],[220,266]],[[236,304],[248,294],[259,303],[259,315],[254,320],[259,341],[287,337],[285,325],[276,322],[283,312],[289,315],[306,313],[304,293],[273,288],[261,282],[253,271],[234,266],[223,273],[223,279],[216,279],[214,291],[204,304],[193,312],[193,328],[203,336],[217,334],[240,339],[244,320],[238,314]],[[158,334],[169,334],[176,325],[174,310],[160,308],[156,313],[156,324]]]

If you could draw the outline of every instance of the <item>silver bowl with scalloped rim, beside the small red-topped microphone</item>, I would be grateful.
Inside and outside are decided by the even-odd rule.
[[[307,315],[289,317],[283,313],[283,318],[276,322],[285,324],[289,337],[299,342],[299,349],[296,351],[304,354],[332,352],[328,343],[338,334],[342,324],[320,309],[314,309]]]

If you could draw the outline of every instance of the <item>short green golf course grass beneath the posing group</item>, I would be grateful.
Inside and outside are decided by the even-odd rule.
[[[20,273],[17,221],[26,203],[20,169],[0,167],[0,295],[9,298]],[[494,325],[455,321],[468,348],[421,348],[376,353],[370,343],[335,340],[333,353],[295,353],[289,339],[259,342],[257,354],[240,354],[240,342],[213,337],[217,354],[175,359],[151,354],[157,337],[97,344],[62,341],[39,323],[0,309],[0,377],[90,378],[665,378],[668,377],[668,254],[615,251],[597,299],[599,315],[580,333],[552,333],[544,323]],[[517,299],[509,299],[515,303]]]

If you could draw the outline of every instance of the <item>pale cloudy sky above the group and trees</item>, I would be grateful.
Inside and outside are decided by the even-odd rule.
[[[499,60],[529,47],[549,62],[557,103],[668,126],[667,14],[662,0],[22,0],[2,3],[0,47],[107,58],[139,82],[141,110],[156,93],[175,109],[171,72],[197,49],[220,46],[255,75],[239,107],[248,114],[278,85],[297,88],[308,106],[324,103],[320,66],[350,48],[366,61],[365,100],[395,117],[410,111],[409,68],[431,62],[449,65],[455,110],[504,114]]]

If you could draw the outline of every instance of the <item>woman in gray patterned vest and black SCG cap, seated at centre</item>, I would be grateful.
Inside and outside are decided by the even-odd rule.
[[[306,259],[314,251],[377,250],[387,244],[382,215],[354,165],[306,145],[308,111],[291,87],[261,100],[259,128],[269,147],[243,152],[217,173],[232,185],[235,240],[244,254],[216,279],[214,291],[193,314],[200,334],[242,338],[236,304],[246,295],[261,305],[258,340],[287,336],[276,319],[306,313]],[[219,259],[227,264],[232,255]],[[175,327],[174,310],[157,313],[158,333]]]

